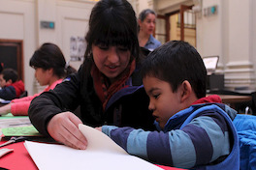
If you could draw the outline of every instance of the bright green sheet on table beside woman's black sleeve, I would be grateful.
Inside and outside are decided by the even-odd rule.
[[[2,128],[4,136],[42,136],[33,126]]]

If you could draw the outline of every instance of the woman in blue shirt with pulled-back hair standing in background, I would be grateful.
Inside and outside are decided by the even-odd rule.
[[[150,9],[144,10],[139,15],[139,34],[138,39],[140,46],[152,51],[161,45],[161,42],[157,41],[153,36],[155,29],[156,14]]]

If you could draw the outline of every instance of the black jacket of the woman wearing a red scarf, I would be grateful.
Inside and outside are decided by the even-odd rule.
[[[80,110],[75,114],[83,124],[91,127],[115,125],[148,130],[154,128],[153,117],[148,110],[148,98],[144,88],[138,88],[142,84],[138,68],[132,74],[133,86],[114,94],[104,111],[94,90],[90,67],[85,65],[81,65],[77,73],[69,75],[54,90],[31,101],[28,115],[40,133],[48,135],[48,122],[54,115],[64,111],[74,112],[77,108]]]

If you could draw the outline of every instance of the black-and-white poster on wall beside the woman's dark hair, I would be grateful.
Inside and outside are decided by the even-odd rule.
[[[70,38],[70,57],[71,61],[83,61],[86,42],[83,37]]]

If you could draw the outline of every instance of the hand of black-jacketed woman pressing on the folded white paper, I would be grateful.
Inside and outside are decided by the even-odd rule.
[[[80,132],[80,118],[71,112],[59,113],[48,122],[49,135],[69,147],[85,150],[87,140]]]

